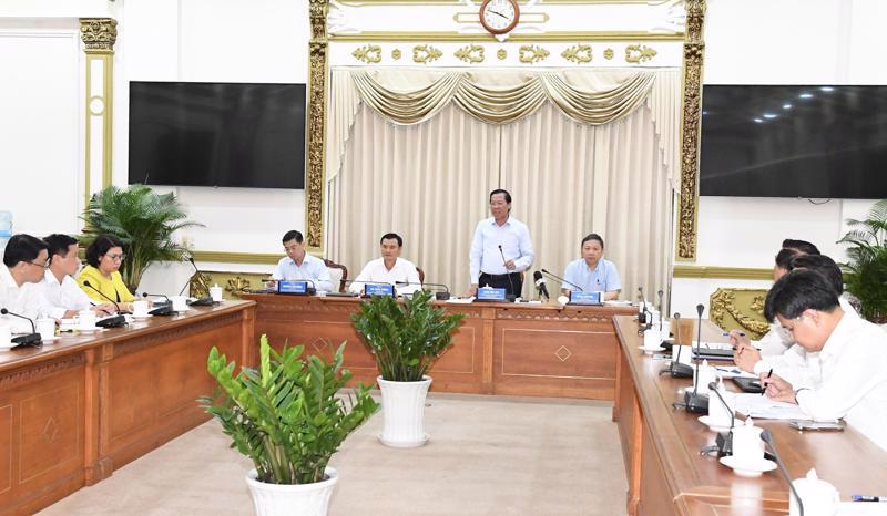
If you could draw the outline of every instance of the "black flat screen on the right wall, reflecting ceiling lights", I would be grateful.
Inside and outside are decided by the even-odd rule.
[[[887,86],[705,85],[700,194],[887,197]]]

